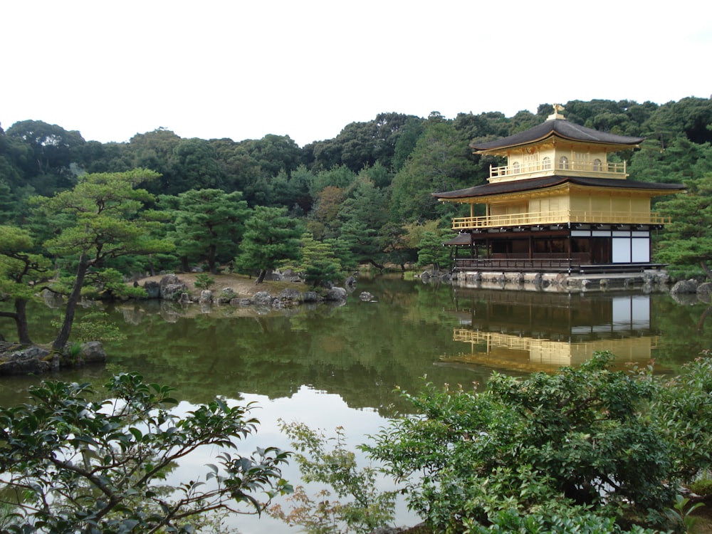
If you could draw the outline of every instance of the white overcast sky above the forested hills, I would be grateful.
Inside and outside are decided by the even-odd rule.
[[[703,0],[5,0],[0,125],[85,140],[336,137],[447,118],[712,93]]]

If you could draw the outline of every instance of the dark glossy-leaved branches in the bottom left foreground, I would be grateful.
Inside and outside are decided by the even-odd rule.
[[[280,468],[288,453],[230,452],[256,431],[249,404],[215,399],[180,417],[168,409],[172,388],[140,375],[119,375],[107,387],[112,399],[96,402],[88,384],[43,382],[31,389],[32,404],[0,408],[0,504],[17,511],[6,531],[193,532],[206,513],[261,513],[290,491]],[[219,451],[204,481],[162,486],[200,446]]]

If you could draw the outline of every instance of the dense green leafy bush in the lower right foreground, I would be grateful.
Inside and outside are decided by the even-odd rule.
[[[660,511],[678,483],[710,466],[712,360],[663,384],[650,370],[613,371],[612,358],[526,379],[495,373],[481,392],[404,392],[419,415],[395,419],[363,448],[438,531],[666,526]]]

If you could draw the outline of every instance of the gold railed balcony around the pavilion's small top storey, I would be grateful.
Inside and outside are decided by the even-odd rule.
[[[513,179],[538,178],[555,174],[618,179],[624,179],[628,176],[626,162],[612,163],[603,159],[576,161],[562,156],[557,161],[544,157],[535,162],[514,162],[503,167],[490,167],[489,181],[505,182]]]

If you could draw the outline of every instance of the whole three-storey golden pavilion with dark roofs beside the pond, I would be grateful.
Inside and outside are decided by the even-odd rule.
[[[684,185],[627,179],[626,163],[609,155],[639,147],[644,137],[592,130],[562,110],[555,105],[548,120],[524,132],[473,142],[476,154],[507,164],[491,167],[487,184],[433,194],[470,207],[453,219],[458,234],[445,243],[454,250],[456,281],[538,273],[560,287],[568,285],[562,276],[642,282],[664,267],[651,263],[650,236],[670,221],[651,211],[651,199]]]

